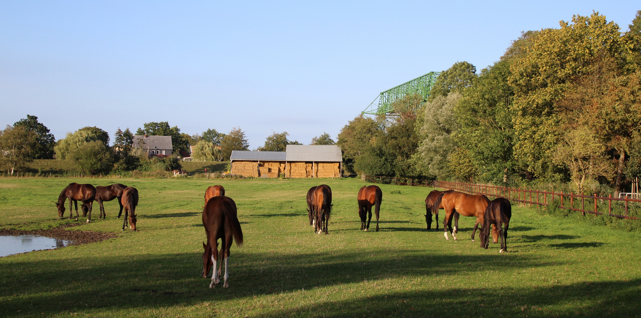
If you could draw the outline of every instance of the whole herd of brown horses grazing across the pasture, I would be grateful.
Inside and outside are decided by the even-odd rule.
[[[98,201],[100,205],[100,217],[106,218],[103,201],[112,201],[118,199],[121,217],[124,209],[124,222],[122,230],[129,226],[131,230],[136,230],[135,208],[138,205],[138,190],[133,187],[127,187],[121,183],[116,183],[108,187],[94,187],[90,184],[80,185],[70,183],[58,197],[58,216],[63,217],[65,212],[65,200],[69,199],[69,219],[72,218],[72,203],[76,206],[76,220],[78,220],[78,201],[81,201],[81,210],[83,217],[87,216],[87,222],[91,219],[91,210],[93,201]],[[331,216],[331,188],[328,185],[318,185],[310,188],[307,192],[307,212],[310,226],[313,226],[315,233],[328,234],[329,217]],[[376,231],[379,231],[379,213],[381,210],[381,201],[383,201],[383,192],[376,185],[363,186],[358,190],[358,215],[361,219],[361,230],[369,230],[372,220],[372,207],[376,215]],[[206,235],[206,242],[203,242],[203,278],[207,278],[208,273],[213,267],[212,283],[209,287],[214,288],[220,283],[220,277],[224,278],[223,287],[229,287],[229,249],[233,241],[237,246],[243,244],[243,234],[238,221],[238,212],[236,203],[230,197],[225,196],[225,189],[222,185],[213,185],[208,187],[204,194],[203,206],[203,226]],[[456,240],[458,233],[458,219],[460,215],[466,217],[476,217],[476,224],[472,230],[472,241],[474,235],[481,224],[479,234],[480,246],[487,249],[489,246],[490,228],[492,229],[492,239],[497,243],[501,239],[500,253],[506,252],[508,225],[512,217],[512,205],[510,201],[499,197],[490,201],[487,196],[482,194],[465,194],[455,190],[429,192],[425,198],[425,221],[427,229],[431,229],[433,222],[432,215],[436,217],[436,229],[438,230],[438,211],[445,210],[443,223],[444,235],[447,240],[447,230]],[[128,219],[129,217],[129,219]],[[454,221],[454,228],[452,228]],[[218,240],[221,240],[220,250]],[[219,265],[219,260],[221,261]],[[222,275],[222,265],[225,266],[224,276]]]

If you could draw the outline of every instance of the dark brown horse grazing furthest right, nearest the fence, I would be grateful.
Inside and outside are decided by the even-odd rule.
[[[512,204],[504,197],[497,197],[492,200],[485,208],[485,215],[483,219],[483,229],[479,233],[479,240],[481,240],[481,247],[487,249],[490,245],[490,224],[494,225],[499,237],[501,238],[501,250],[499,253],[508,251],[508,226],[512,218]],[[505,224],[505,230],[501,224]]]

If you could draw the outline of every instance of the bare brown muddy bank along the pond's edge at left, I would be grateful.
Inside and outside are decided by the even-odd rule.
[[[89,244],[100,242],[108,238],[117,237],[114,233],[96,232],[96,231],[70,231],[67,228],[72,228],[78,224],[67,224],[59,226],[58,228],[51,228],[49,230],[0,230],[0,235],[38,235],[41,237],[53,237],[59,240],[71,240],[73,245]]]

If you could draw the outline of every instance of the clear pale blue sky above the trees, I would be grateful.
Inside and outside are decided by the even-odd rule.
[[[308,144],[378,93],[498,60],[521,31],[637,1],[0,1],[0,124],[37,115],[56,139],[169,121],[193,134],[272,131]]]

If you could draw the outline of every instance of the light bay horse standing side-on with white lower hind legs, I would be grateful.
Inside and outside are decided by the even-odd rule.
[[[450,233],[454,240],[458,240],[454,232],[452,231],[452,214],[454,211],[458,212],[460,215],[466,217],[476,217],[476,224],[474,224],[474,230],[472,231],[472,242],[474,241],[474,234],[476,229],[479,226],[479,223],[483,223],[483,215],[485,214],[485,208],[490,203],[488,199],[483,194],[465,194],[462,192],[444,192],[439,194],[436,201],[432,205],[432,213],[438,211],[439,206],[443,206],[445,210],[445,220],[444,220],[444,235],[447,240],[447,228],[449,228]],[[445,226],[445,224],[447,226]]]

